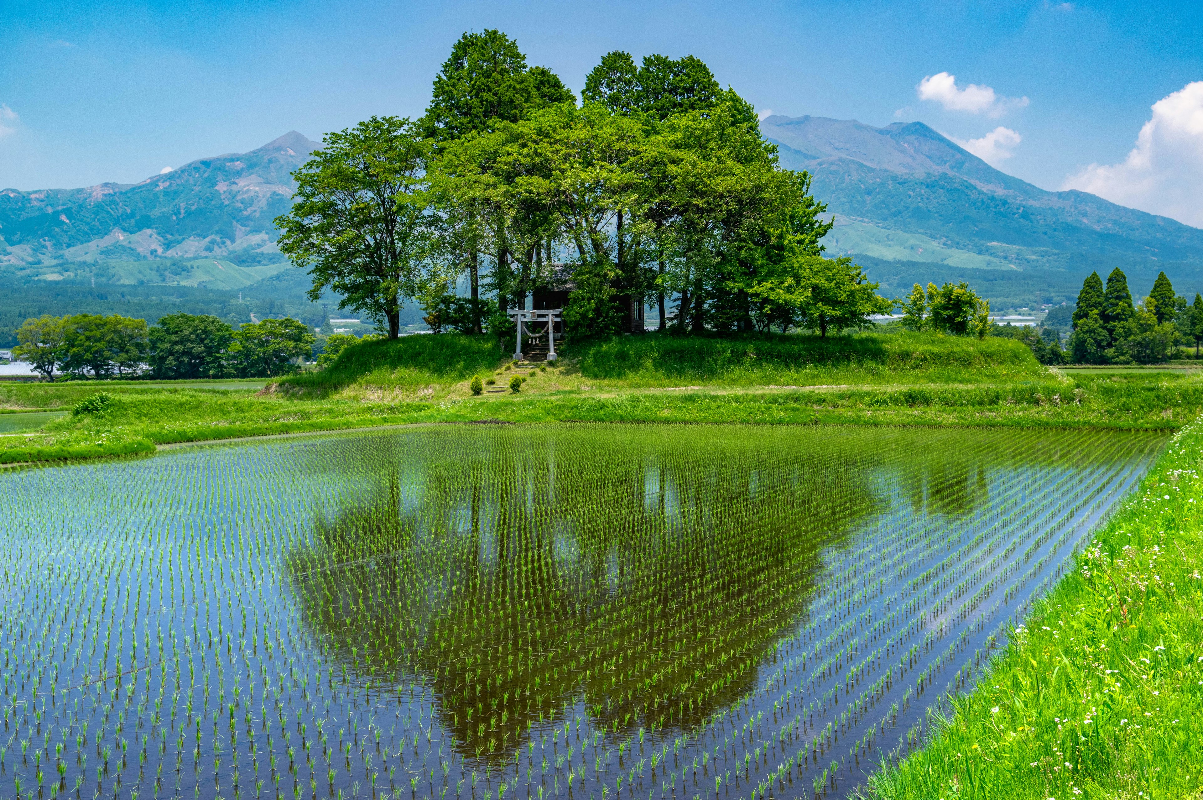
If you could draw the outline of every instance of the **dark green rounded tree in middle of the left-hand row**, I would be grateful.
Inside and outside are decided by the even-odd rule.
[[[150,328],[149,366],[161,380],[224,378],[233,330],[217,316],[167,314]]]

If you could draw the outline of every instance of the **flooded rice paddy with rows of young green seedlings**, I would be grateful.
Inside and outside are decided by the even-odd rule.
[[[0,795],[846,796],[1163,442],[440,426],[0,475]]]

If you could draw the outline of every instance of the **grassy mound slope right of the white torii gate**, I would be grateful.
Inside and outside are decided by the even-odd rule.
[[[893,380],[917,373],[941,383],[1047,380],[1031,350],[1005,338],[938,333],[859,333],[740,337],[615,337],[577,345],[570,354],[586,378],[628,385],[686,383],[814,384],[824,379]]]

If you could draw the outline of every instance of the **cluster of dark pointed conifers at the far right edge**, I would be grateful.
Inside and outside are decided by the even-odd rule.
[[[1161,272],[1149,296],[1134,306],[1127,277],[1115,268],[1106,288],[1097,272],[1083,283],[1065,355],[1075,363],[1156,363],[1183,344],[1193,344],[1197,357],[1201,342],[1203,296],[1187,303]]]

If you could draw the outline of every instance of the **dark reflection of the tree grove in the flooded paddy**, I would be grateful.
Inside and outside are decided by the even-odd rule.
[[[805,610],[822,547],[876,510],[854,448],[486,437],[420,448],[420,490],[390,475],[315,518],[290,559],[319,640],[373,683],[416,675],[485,758],[577,699],[612,729],[734,701]]]

